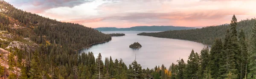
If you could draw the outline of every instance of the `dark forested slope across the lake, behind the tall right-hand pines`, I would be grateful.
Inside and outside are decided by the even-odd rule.
[[[244,30],[245,36],[249,37],[252,31],[255,19],[241,20],[237,23],[237,30]],[[201,42],[203,44],[212,45],[215,38],[219,37],[224,40],[225,31],[229,29],[230,25],[206,26],[203,28],[180,30],[180,31],[163,31],[157,33],[140,33],[137,35],[172,38],[180,40],[190,40]]]

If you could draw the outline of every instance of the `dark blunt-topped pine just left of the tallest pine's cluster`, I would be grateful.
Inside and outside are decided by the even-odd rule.
[[[220,66],[220,58],[221,53],[223,49],[223,45],[220,39],[215,39],[214,45],[211,48],[210,51],[210,61],[209,61],[209,67],[210,67],[210,73],[213,79],[217,79],[220,74],[219,72],[219,66]]]

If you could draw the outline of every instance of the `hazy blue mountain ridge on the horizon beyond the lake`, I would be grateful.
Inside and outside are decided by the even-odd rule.
[[[115,27],[102,27],[95,28],[98,31],[170,31],[170,30],[186,30],[196,29],[194,27],[180,27],[180,26],[135,26],[131,28],[115,28]]]

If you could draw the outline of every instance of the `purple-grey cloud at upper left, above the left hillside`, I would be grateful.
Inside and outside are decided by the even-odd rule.
[[[50,8],[74,7],[94,0],[7,0],[12,5],[26,8],[32,13],[42,13]]]

